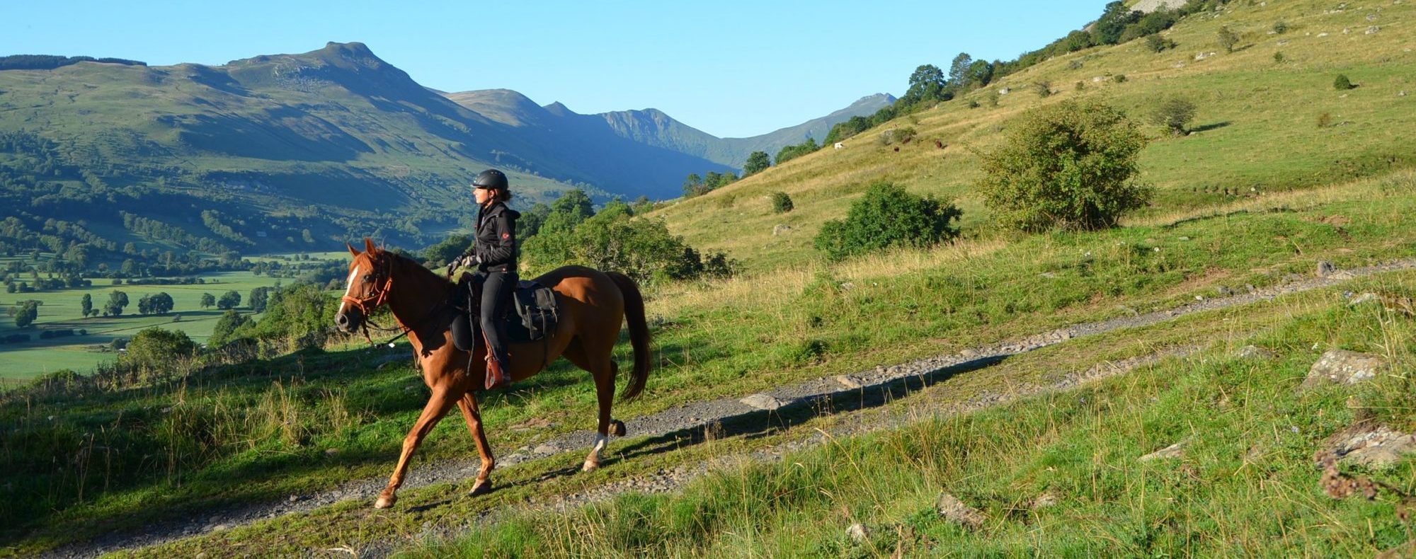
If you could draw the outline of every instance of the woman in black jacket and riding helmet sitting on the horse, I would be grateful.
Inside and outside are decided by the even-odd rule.
[[[477,198],[477,232],[472,250],[453,260],[453,266],[477,267],[481,283],[481,331],[491,347],[487,362],[487,388],[504,386],[510,364],[507,330],[501,320],[511,301],[517,280],[517,211],[507,208],[511,191],[507,175],[496,168],[481,171],[472,181]]]

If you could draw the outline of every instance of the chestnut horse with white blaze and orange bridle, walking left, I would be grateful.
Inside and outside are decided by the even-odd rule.
[[[413,429],[404,437],[404,450],[388,478],[388,487],[378,494],[375,508],[388,508],[398,498],[394,495],[404,484],[408,473],[408,459],[432,432],[433,426],[456,403],[467,420],[467,429],[477,442],[481,456],[481,470],[469,491],[480,495],[491,490],[491,446],[481,432],[481,415],[477,410],[477,396],[473,391],[481,388],[486,371],[486,344],[476,344],[469,355],[457,350],[452,341],[449,325],[456,316],[452,307],[455,284],[428,270],[408,258],[382,250],[364,239],[361,253],[350,246],[354,262],[350,263],[348,287],[340,303],[336,323],[340,330],[358,330],[368,314],[388,304],[398,325],[408,333],[418,364],[423,371],[423,382],[432,389],[423,413],[418,416]],[[595,446],[585,457],[585,470],[600,466],[600,450],[613,434],[624,434],[624,423],[610,417],[610,402],[615,399],[615,376],[619,367],[610,352],[619,341],[620,323],[627,318],[630,344],[634,348],[634,369],[629,385],[620,395],[622,400],[633,399],[644,389],[649,378],[649,327],[644,323],[644,299],[634,280],[616,272],[599,272],[582,266],[565,266],[535,279],[551,287],[559,303],[559,324],[548,340],[528,344],[511,344],[511,362],[506,374],[511,381],[524,381],[541,372],[551,361],[564,355],[576,367],[589,371],[595,378],[595,392],[599,396],[600,413]]]

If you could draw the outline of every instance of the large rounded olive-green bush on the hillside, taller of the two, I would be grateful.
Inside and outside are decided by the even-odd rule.
[[[978,188],[1004,226],[1099,229],[1146,205],[1131,183],[1146,140],[1126,115],[1099,100],[1029,110],[1004,144],[983,154]]]

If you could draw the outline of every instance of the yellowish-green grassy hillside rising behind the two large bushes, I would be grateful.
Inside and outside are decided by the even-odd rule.
[[[769,270],[810,262],[820,225],[845,215],[867,184],[885,180],[957,200],[966,209],[966,235],[991,238],[987,208],[973,192],[974,150],[995,146],[1024,110],[1075,96],[1104,98],[1140,122],[1171,95],[1198,105],[1192,136],[1170,137],[1160,126],[1147,127],[1153,142],[1141,154],[1140,180],[1155,185],[1157,197],[1131,222],[1408,167],[1416,163],[1405,149],[1416,140],[1416,78],[1408,72],[1416,44],[1403,30],[1413,20],[1416,7],[1406,3],[1382,6],[1379,13],[1332,10],[1323,1],[1231,3],[1167,31],[1174,50],[1157,54],[1144,41],[1131,41],[1056,57],[851,137],[843,150],[792,160],[657,215],[692,246],[726,250],[748,269]],[[1279,21],[1287,31],[1269,34]],[[1221,25],[1240,34],[1232,54],[1218,45]],[[1379,30],[1366,34],[1374,25]],[[1274,61],[1276,52],[1283,52],[1283,62]],[[1205,58],[1195,59],[1197,54]],[[1361,86],[1335,91],[1338,74]],[[1121,75],[1124,82],[1117,82]],[[1055,93],[1042,98],[1038,82]],[[997,96],[1004,88],[1010,92]],[[1328,126],[1318,125],[1323,115]],[[913,127],[918,139],[884,144],[881,134],[898,127]],[[936,140],[947,147],[936,149]],[[767,198],[773,191],[792,195],[796,209],[773,214]],[[773,235],[776,225],[792,229]]]

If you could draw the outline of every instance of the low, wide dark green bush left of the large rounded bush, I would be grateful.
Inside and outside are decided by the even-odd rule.
[[[953,204],[877,183],[851,204],[844,221],[826,222],[814,243],[833,262],[889,246],[932,246],[959,236],[950,222],[960,215]]]

